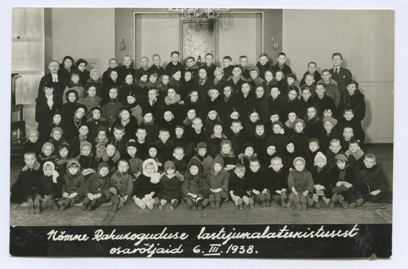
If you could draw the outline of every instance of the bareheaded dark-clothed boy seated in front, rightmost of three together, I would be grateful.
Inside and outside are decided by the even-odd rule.
[[[271,193],[272,200],[282,208],[286,207],[287,200],[287,178],[289,177],[289,169],[282,169],[282,159],[274,157],[271,159],[266,173],[268,180],[266,186]]]

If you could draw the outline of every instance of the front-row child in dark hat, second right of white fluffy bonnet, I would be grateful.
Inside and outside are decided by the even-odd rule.
[[[197,160],[190,160],[181,187],[185,201],[191,210],[202,210],[208,206],[211,193],[203,167]]]

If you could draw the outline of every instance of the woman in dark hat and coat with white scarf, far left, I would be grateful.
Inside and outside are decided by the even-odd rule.
[[[37,130],[41,143],[49,140],[52,130],[50,121],[53,118],[54,112],[62,106],[61,96],[53,94],[53,82],[46,81],[43,91],[45,95],[35,100],[35,121],[38,123]]]

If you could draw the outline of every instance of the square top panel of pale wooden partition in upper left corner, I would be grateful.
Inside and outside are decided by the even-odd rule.
[[[42,38],[42,8],[13,8],[12,37]]]

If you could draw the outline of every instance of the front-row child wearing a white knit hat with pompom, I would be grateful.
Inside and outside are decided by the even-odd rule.
[[[320,197],[326,205],[330,205],[331,197],[333,195],[331,190],[334,186],[333,181],[329,178],[329,173],[330,167],[327,165],[326,156],[324,156],[323,153],[318,152],[315,157],[315,164],[310,170],[311,177],[315,184],[315,189],[311,198],[316,202],[316,208],[320,208]]]

